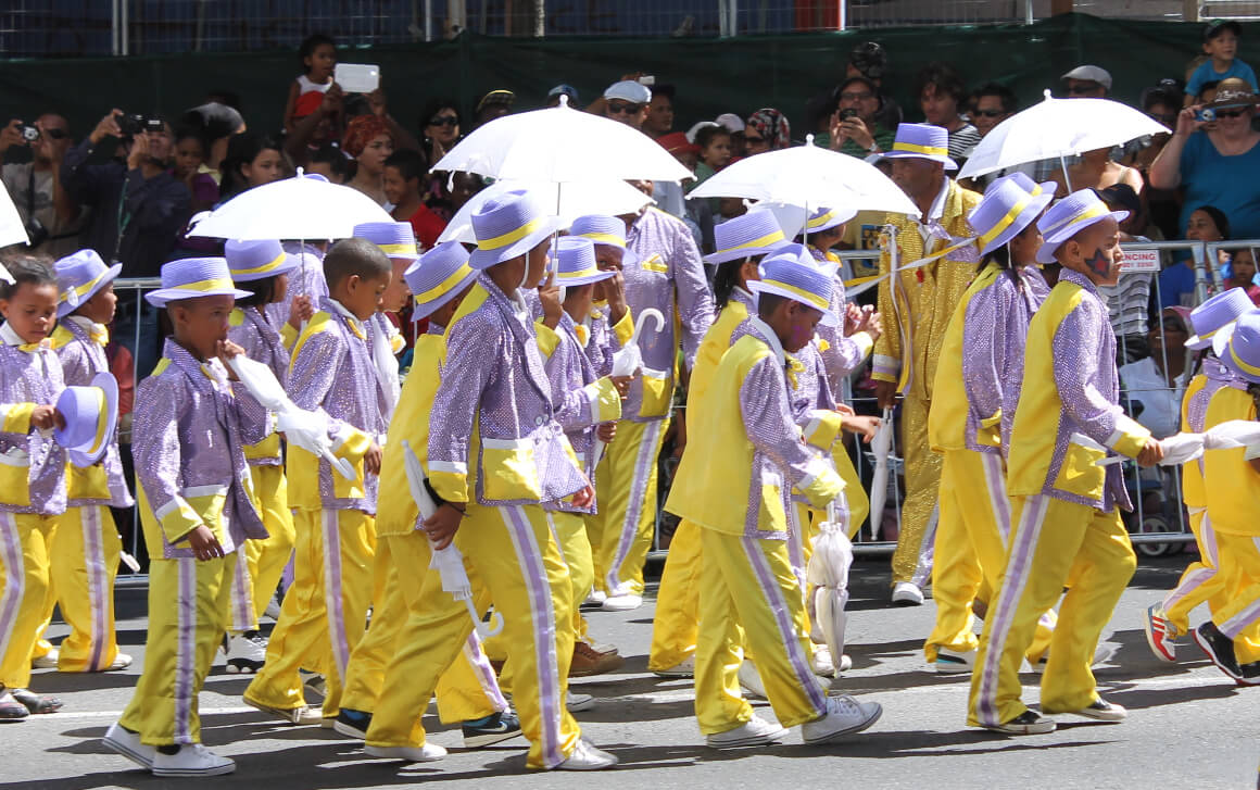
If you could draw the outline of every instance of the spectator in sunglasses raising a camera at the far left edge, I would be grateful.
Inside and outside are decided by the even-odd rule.
[[[24,129],[34,129],[38,136],[28,140]],[[62,161],[73,142],[66,118],[53,112],[32,126],[14,118],[0,130],[0,156],[14,146],[30,149],[30,161],[5,165],[3,176],[26,228],[30,252],[59,258],[78,249],[84,209],[62,184]]]

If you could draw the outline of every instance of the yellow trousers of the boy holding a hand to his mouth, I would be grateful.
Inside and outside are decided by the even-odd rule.
[[[198,696],[223,639],[239,552],[149,564],[145,669],[120,723],[149,746],[200,743]]]

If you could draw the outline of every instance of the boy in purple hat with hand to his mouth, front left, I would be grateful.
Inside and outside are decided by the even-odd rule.
[[[136,388],[131,440],[150,557],[145,668],[102,742],[155,776],[215,776],[236,762],[202,745],[198,697],[223,640],[238,549],[267,537],[244,447],[271,418],[224,365],[243,353],[227,339],[232,304],[249,296],[232,286],[227,261],[173,261],[161,285],[145,299],[166,307],[175,333]]]

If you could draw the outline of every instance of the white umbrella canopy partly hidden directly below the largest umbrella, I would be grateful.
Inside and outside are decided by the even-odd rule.
[[[472,195],[467,203],[460,207],[451,217],[451,222],[437,237],[438,242],[465,242],[476,243],[472,233],[472,214],[480,210],[486,200],[498,198],[505,192],[523,189],[534,195],[538,202],[551,209],[558,205],[557,215],[563,220],[562,228],[568,228],[573,220],[585,214],[607,214],[619,217],[621,214],[635,214],[643,207],[653,203],[653,199],[643,194],[630,184],[617,179],[601,181],[577,181],[557,184],[554,181],[495,181],[481,192]]]

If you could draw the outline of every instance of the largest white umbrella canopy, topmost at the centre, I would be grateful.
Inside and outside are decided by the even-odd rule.
[[[567,103],[490,121],[461,140],[433,170],[551,183],[693,178],[648,135]]]

